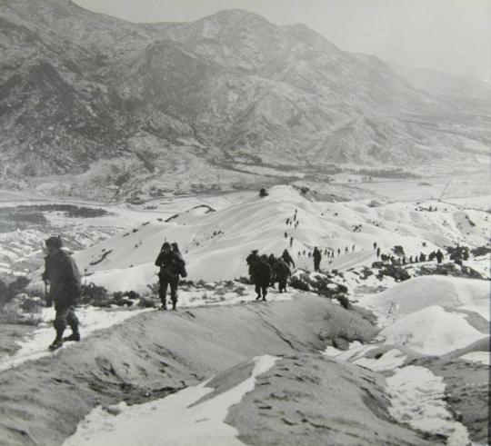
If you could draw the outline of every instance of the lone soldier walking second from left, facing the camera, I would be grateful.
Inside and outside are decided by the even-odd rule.
[[[170,286],[172,309],[175,310],[177,305],[177,288],[179,286],[179,274],[182,273],[182,256],[177,255],[171,250],[171,245],[165,242],[161,251],[155,260],[155,266],[160,268],[158,279],[160,286],[158,295],[162,302],[162,310],[167,309],[167,288]]]

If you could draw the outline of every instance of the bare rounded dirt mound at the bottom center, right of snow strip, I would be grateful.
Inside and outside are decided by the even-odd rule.
[[[392,420],[383,389],[375,372],[319,354],[287,355],[225,421],[246,444],[436,444]]]

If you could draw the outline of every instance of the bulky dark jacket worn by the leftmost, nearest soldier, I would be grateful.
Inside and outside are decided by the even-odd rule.
[[[49,282],[48,300],[56,305],[75,305],[80,297],[80,272],[75,260],[63,250],[45,257],[43,280]]]

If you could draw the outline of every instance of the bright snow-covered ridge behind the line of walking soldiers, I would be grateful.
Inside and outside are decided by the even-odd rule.
[[[336,253],[334,259],[324,255],[322,268],[346,270],[374,262],[374,242],[383,253],[401,245],[407,257],[456,243],[486,244],[486,213],[451,204],[426,212],[431,204],[313,202],[294,187],[276,186],[267,197],[252,196],[216,212],[198,208],[168,223],[155,215],[154,221],[118,233],[75,258],[81,270],[91,274],[87,282],[116,291],[144,289],[156,281],[154,262],[165,240],[179,243],[190,279],[214,281],[246,275],[246,255],[253,249],[276,255],[288,249],[297,267],[311,267],[308,253],[318,246],[323,253]],[[296,212],[295,228],[286,219],[292,220]]]

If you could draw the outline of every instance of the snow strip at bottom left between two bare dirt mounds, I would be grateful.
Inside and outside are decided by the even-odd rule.
[[[207,387],[210,380],[141,405],[128,407],[121,402],[117,406],[120,413],[116,415],[98,407],[85,417],[64,446],[242,445],[236,438],[238,431],[225,424],[227,412],[254,390],[256,377],[271,369],[277,359],[270,355],[256,357],[249,378],[202,402],[214,391]]]

